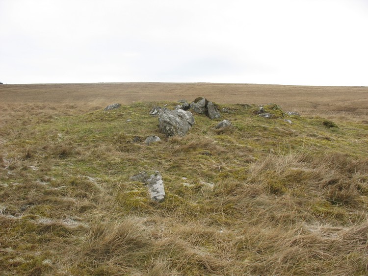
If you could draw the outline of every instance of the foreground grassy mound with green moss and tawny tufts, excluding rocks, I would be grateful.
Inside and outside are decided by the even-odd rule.
[[[229,113],[167,139],[149,115],[164,104],[2,113],[1,274],[368,273],[366,121],[219,104]],[[234,127],[215,130],[223,119]],[[156,170],[161,203],[130,180]]]

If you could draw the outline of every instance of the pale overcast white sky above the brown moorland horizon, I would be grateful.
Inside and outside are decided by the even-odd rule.
[[[368,86],[368,0],[0,0],[0,81]]]

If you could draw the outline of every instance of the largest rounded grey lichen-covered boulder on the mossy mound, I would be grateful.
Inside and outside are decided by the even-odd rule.
[[[158,116],[159,129],[166,136],[184,136],[194,125],[193,114],[183,109],[166,111]]]

